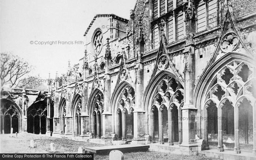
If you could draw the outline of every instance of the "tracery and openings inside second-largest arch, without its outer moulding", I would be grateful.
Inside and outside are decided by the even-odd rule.
[[[166,76],[157,85],[151,101],[151,136],[159,143],[182,142],[181,107],[184,99],[184,88],[173,77]],[[169,123],[168,119],[173,121]],[[160,128],[159,126],[162,126]],[[172,133],[172,134],[169,134]]]

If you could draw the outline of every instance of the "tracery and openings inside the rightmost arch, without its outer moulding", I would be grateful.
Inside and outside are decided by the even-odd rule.
[[[253,115],[250,114],[252,102],[255,102],[256,98],[252,89],[255,87],[253,71],[254,68],[249,64],[234,60],[216,74],[207,91],[205,114],[207,112],[208,118],[205,139],[216,141],[212,134],[222,131],[221,135],[218,134],[218,150],[224,151],[222,141],[236,141],[234,151],[237,153],[241,152],[239,143],[253,143]],[[227,141],[228,139],[234,141]]]

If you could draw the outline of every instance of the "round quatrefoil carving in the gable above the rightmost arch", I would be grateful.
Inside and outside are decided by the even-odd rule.
[[[235,33],[227,33],[221,40],[221,50],[225,53],[236,49],[239,39]]]

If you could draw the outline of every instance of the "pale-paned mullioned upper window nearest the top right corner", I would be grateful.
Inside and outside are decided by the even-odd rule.
[[[196,7],[197,32],[217,26],[217,0],[201,0]]]

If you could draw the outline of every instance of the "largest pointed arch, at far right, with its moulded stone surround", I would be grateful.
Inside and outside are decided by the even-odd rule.
[[[224,151],[222,139],[225,138],[225,134],[234,134],[234,151],[236,153],[240,153],[240,147],[238,142],[238,123],[239,119],[241,119],[240,116],[238,116],[239,108],[238,103],[241,99],[249,99],[251,102],[251,105],[255,103],[255,97],[253,97],[253,81],[255,81],[255,68],[253,68],[253,58],[249,57],[247,54],[241,54],[241,53],[234,53],[229,52],[223,55],[221,58],[219,58],[216,62],[214,62],[209,69],[207,69],[198,84],[196,84],[194,97],[195,97],[195,106],[199,108],[198,110],[198,116],[201,115],[200,111],[203,109],[204,113],[203,116],[207,116],[206,109],[200,108],[200,106],[206,106],[209,100],[212,100],[214,103],[216,103],[216,106],[218,108],[218,117],[224,116],[224,118],[229,119],[228,121],[225,121],[223,119],[218,118],[218,150]],[[211,80],[217,79],[214,83],[212,83]],[[251,90],[250,90],[251,89]],[[230,104],[233,106],[233,109],[230,108],[231,117],[234,117],[234,119],[231,120],[230,118],[227,118],[225,116],[226,110],[223,110],[225,108],[222,108],[223,103],[229,101]],[[233,110],[233,111],[232,111]],[[223,113],[225,111],[225,113]],[[208,117],[205,117],[208,119]],[[203,135],[203,137],[206,139],[208,136],[206,132],[207,130],[207,121],[201,121],[199,122],[198,126],[200,125],[204,126],[205,129],[203,133],[200,133],[199,135]],[[216,123],[216,122],[215,122]],[[231,132],[227,133],[225,131],[225,125],[226,123],[233,123],[232,127],[233,129]],[[223,129],[224,127],[224,129]],[[222,132],[220,132],[222,130]],[[233,131],[235,132],[233,132]],[[217,134],[217,133],[216,133]],[[252,139],[252,138],[251,138]],[[206,140],[206,143],[208,140]],[[208,144],[206,145],[206,149],[208,149]]]

